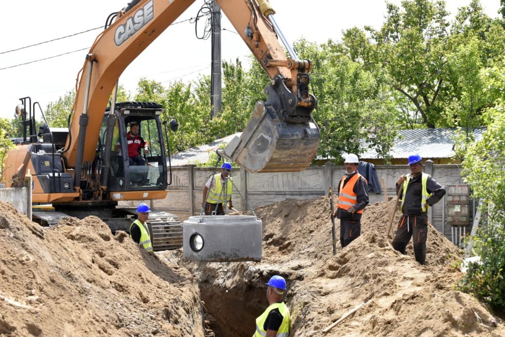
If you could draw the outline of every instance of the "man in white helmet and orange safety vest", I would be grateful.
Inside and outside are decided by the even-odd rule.
[[[358,173],[356,154],[345,157],[345,175],[338,184],[338,203],[334,216],[340,219],[340,246],[344,248],[361,235],[361,216],[368,205],[367,180]]]

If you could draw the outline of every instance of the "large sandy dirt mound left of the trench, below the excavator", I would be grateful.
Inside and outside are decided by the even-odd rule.
[[[0,334],[203,336],[197,285],[95,216],[42,230],[0,202]]]

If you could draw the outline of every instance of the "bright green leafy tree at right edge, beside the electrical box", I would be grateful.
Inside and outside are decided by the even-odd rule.
[[[493,307],[505,307],[505,102],[484,114],[482,139],[460,146],[463,175],[475,198],[483,202],[487,223],[473,238],[480,263],[472,263],[460,287]],[[461,152],[464,153],[461,153]]]

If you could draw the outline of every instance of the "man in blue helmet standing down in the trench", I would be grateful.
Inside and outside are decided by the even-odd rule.
[[[291,316],[282,301],[286,280],[282,276],[274,275],[266,285],[269,307],[256,318],[256,332],[252,337],[288,337]]]

